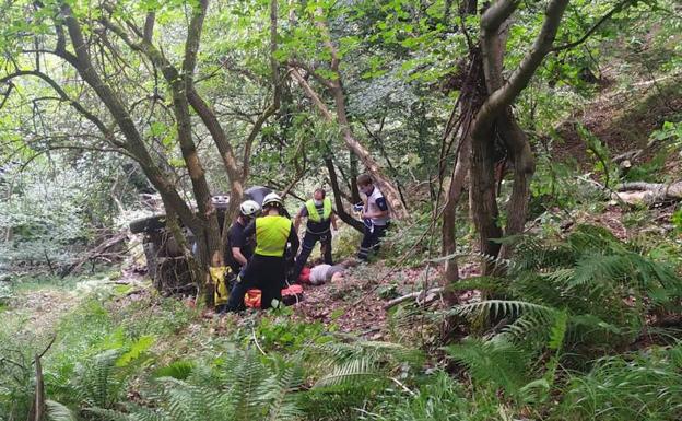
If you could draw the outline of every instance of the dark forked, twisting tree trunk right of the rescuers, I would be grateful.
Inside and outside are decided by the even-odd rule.
[[[567,4],[568,0],[549,1],[542,27],[533,45],[507,80],[504,80],[502,73],[507,37],[505,25],[519,2],[496,1],[481,16],[480,45],[490,95],[478,110],[472,127],[470,199],[472,218],[480,234],[481,253],[489,259],[499,256],[501,246],[492,239],[503,235],[498,226],[499,215],[495,200],[494,140],[496,136],[502,138],[515,164],[515,183],[507,206],[507,234],[519,233],[526,222],[529,180],[534,172],[534,162],[528,140],[516,124],[510,106],[551,51]],[[506,247],[504,255],[508,254]],[[489,260],[483,272],[490,273],[493,268]]]

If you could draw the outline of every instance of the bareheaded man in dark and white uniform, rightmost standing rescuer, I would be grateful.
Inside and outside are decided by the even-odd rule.
[[[372,177],[363,174],[357,177],[357,188],[367,196],[365,204],[356,204],[356,209],[361,210],[361,217],[365,223],[365,232],[357,258],[367,260],[369,253],[377,253],[381,238],[386,235],[386,230],[390,224],[390,215],[388,202],[386,198],[374,185]]]

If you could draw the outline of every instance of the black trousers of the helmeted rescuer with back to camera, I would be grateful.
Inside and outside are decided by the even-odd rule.
[[[260,308],[270,308],[273,299],[281,302],[285,276],[284,257],[254,255],[230,293],[227,311],[244,309],[244,296],[252,288],[261,291]]]

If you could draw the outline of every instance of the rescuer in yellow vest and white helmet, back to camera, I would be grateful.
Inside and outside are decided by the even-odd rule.
[[[246,237],[256,234],[256,250],[237,277],[227,301],[227,311],[243,309],[244,295],[251,288],[261,291],[261,308],[272,306],[273,300],[278,303],[282,301],[286,244],[291,243],[293,249],[298,249],[299,245],[293,223],[283,213],[282,198],[274,192],[269,194],[263,198],[262,217],[256,218],[244,230]]]

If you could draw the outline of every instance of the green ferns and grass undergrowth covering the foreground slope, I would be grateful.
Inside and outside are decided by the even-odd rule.
[[[516,241],[504,278],[458,285],[484,300],[398,306],[391,329],[404,343],[291,308],[208,317],[102,282],[51,331],[2,325],[0,420],[26,418],[43,352],[51,420],[680,419],[680,332],[657,325],[680,314],[674,250],[587,225]],[[432,338],[428,351],[400,335],[445,319],[462,335]]]

